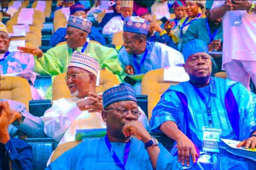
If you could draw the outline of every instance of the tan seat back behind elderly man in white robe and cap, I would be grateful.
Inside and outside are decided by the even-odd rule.
[[[52,83],[52,100],[57,100],[61,98],[71,98],[70,91],[66,85],[64,77],[66,73],[59,74],[55,77]],[[119,85],[117,77],[105,70],[100,71],[99,86],[96,87],[97,93],[103,93],[108,88],[114,85]]]

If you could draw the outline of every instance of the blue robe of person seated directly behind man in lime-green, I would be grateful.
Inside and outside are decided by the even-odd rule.
[[[52,34],[50,45],[52,47],[55,47],[58,43],[66,41],[66,33],[67,28],[58,28],[57,31]],[[90,38],[90,40],[98,41],[99,43],[101,43],[101,45],[106,44],[105,38],[102,36],[102,34],[99,33],[98,29],[93,26],[91,27],[90,34],[88,34],[88,38]]]

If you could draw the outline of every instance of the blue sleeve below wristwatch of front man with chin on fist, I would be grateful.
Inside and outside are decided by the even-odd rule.
[[[177,170],[177,162],[174,161],[173,156],[166,150],[161,143],[158,144],[160,153],[157,157],[156,170]]]

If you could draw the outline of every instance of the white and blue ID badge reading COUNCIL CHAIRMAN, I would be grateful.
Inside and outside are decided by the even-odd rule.
[[[219,153],[221,129],[203,127],[203,151]]]

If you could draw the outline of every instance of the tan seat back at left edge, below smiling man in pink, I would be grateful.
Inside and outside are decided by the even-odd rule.
[[[26,110],[29,111],[29,100],[32,100],[29,82],[22,77],[5,78],[5,82],[1,83],[0,99],[10,99],[21,102],[26,105]]]

